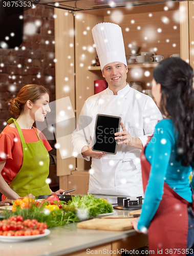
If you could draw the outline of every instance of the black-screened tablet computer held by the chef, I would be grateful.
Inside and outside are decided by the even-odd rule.
[[[121,117],[119,116],[97,114],[93,151],[113,155],[117,153],[117,142],[114,134],[120,131],[120,121]]]

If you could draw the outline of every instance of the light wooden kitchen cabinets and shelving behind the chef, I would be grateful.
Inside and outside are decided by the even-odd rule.
[[[167,11],[164,10],[166,6]],[[75,13],[55,9],[55,14],[56,100],[69,96],[76,116],[84,101],[94,94],[94,80],[103,79],[100,67],[91,66],[96,57],[91,29],[100,22],[116,23],[122,28],[126,56],[131,54],[128,45],[132,44],[141,47],[139,53],[152,51],[164,58],[180,53],[182,59],[194,67],[193,2]],[[156,65],[128,65],[127,82],[141,81],[143,89],[151,89]],[[65,86],[69,90],[64,90]],[[61,159],[57,152],[61,188],[76,187],[76,194],[87,193],[89,169],[89,162],[75,157]]]

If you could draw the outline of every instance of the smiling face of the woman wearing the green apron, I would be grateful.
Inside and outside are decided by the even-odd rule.
[[[51,112],[48,93],[42,95],[41,98],[37,99],[36,102],[32,104],[32,115],[35,115],[36,121],[43,122],[47,112]]]

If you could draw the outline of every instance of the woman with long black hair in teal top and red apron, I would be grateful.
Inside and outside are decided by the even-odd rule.
[[[141,153],[145,196],[133,225],[137,232],[148,230],[149,250],[155,254],[183,255],[194,248],[193,179],[189,184],[194,165],[193,70],[180,58],[167,58],[153,77],[152,94],[164,119]]]

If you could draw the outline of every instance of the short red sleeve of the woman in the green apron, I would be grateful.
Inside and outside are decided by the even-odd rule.
[[[0,134],[0,161],[13,160],[12,158],[13,142],[5,133]]]

